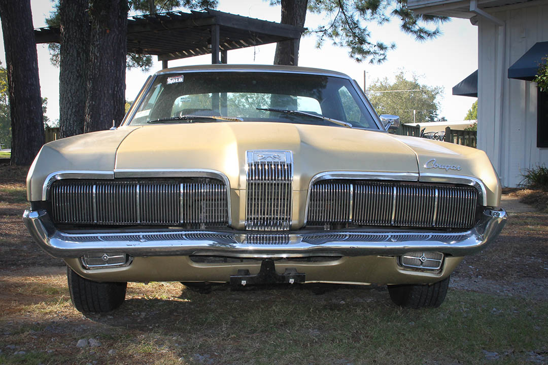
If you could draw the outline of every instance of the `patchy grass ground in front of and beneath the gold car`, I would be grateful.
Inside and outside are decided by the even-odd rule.
[[[0,363],[482,364],[491,351],[496,363],[518,364],[548,351],[548,303],[523,298],[451,290],[441,308],[404,310],[384,289],[204,295],[130,283],[120,309],[83,317],[62,282],[62,274],[0,279],[7,298],[16,294],[0,320],[10,332],[0,335]],[[79,349],[81,338],[101,346]]]

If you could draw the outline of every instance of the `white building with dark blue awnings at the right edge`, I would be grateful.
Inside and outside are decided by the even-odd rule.
[[[408,7],[478,26],[478,148],[503,186],[520,183],[524,168],[548,165],[548,92],[531,82],[548,54],[548,1],[408,0]]]

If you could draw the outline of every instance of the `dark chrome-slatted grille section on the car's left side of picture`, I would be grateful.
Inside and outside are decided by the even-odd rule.
[[[216,179],[183,181],[61,180],[51,188],[52,216],[70,224],[229,223],[225,184]]]

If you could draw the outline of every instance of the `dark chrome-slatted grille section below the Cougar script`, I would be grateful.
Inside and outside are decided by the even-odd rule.
[[[310,191],[307,224],[470,228],[478,198],[467,186],[320,181]]]

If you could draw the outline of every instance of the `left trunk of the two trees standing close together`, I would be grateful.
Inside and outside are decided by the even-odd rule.
[[[61,0],[59,133],[84,132],[86,70],[89,55],[88,0]]]

